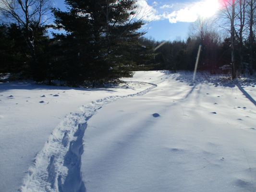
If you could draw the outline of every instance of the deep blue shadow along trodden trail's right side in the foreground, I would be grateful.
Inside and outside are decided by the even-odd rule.
[[[86,192],[85,183],[81,174],[81,156],[84,153],[83,136],[87,123],[79,124],[74,136],[75,141],[70,142],[69,150],[64,157],[64,166],[68,168],[68,175],[64,184],[58,178],[58,188],[60,192]]]

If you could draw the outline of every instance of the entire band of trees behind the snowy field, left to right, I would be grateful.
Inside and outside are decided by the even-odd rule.
[[[0,75],[9,80],[94,86],[138,70],[194,70],[199,45],[198,70],[232,79],[256,70],[255,0],[223,0],[214,19],[198,17],[187,39],[172,42],[143,37],[136,0],[65,0],[66,12],[49,0],[0,2]],[[49,37],[49,27],[65,33]]]

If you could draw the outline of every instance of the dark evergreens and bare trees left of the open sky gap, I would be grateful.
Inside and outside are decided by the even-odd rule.
[[[27,9],[14,23],[0,25],[1,74],[78,86],[116,82],[153,66],[149,48],[139,42],[145,33],[138,29],[145,23],[135,18],[135,0],[65,0],[66,12],[50,9],[51,25],[41,22],[49,6],[40,12],[38,6],[43,5],[33,6],[37,0],[30,0],[28,6],[22,4],[27,0],[17,2],[12,10],[0,10],[15,21],[16,13]],[[65,32],[49,38],[48,27]]]

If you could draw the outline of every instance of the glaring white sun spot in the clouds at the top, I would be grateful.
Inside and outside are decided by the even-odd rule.
[[[219,9],[218,0],[205,0],[197,6],[197,13],[202,17],[211,17]]]

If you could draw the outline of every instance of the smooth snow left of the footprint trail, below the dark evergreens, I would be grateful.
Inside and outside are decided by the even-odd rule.
[[[127,96],[151,86],[133,82],[101,88],[0,83],[0,191],[18,191],[36,154],[67,114],[91,101]]]

